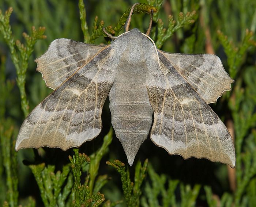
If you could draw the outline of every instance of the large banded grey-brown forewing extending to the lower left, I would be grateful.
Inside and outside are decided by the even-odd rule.
[[[100,133],[102,107],[115,78],[110,51],[111,47],[103,49],[34,108],[20,128],[16,150],[67,150]]]

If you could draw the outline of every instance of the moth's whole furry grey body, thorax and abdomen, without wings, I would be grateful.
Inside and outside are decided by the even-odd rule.
[[[144,50],[138,45],[143,45]],[[140,145],[147,139],[152,123],[153,110],[146,89],[146,57],[147,53],[155,51],[153,43],[137,29],[115,39],[113,49],[117,51],[116,56],[120,61],[109,92],[109,108],[116,136],[132,165]]]

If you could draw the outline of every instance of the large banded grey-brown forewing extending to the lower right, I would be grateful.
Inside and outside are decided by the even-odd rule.
[[[147,85],[154,111],[152,141],[185,159],[207,158],[234,167],[234,144],[226,126],[161,52],[159,64]]]

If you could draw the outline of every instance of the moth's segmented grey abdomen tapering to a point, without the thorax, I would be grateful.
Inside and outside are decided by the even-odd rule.
[[[109,92],[109,108],[116,136],[131,165],[140,145],[147,138],[153,110],[148,99],[145,74],[138,76],[137,73],[128,80],[123,76],[117,76]]]

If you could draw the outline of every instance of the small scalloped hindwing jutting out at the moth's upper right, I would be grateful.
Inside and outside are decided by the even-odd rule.
[[[223,91],[230,91],[230,84],[234,81],[226,73],[216,55],[158,51],[172,63],[206,103],[214,103]]]

